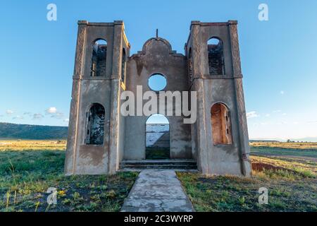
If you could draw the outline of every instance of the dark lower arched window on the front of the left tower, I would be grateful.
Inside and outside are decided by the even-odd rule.
[[[104,119],[104,107],[99,104],[92,105],[87,112],[86,144],[104,144]]]

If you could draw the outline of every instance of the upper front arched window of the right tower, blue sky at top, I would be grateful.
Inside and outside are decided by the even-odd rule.
[[[224,75],[225,61],[223,59],[223,42],[217,37],[208,41],[209,75]]]

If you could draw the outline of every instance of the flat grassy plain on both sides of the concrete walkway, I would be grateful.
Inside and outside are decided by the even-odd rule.
[[[251,143],[252,177],[178,172],[197,211],[317,211],[317,143]],[[119,211],[137,172],[63,175],[66,141],[0,141],[0,211]],[[57,204],[49,205],[49,188]],[[268,189],[268,204],[258,202]]]

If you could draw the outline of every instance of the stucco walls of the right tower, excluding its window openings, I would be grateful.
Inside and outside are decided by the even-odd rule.
[[[209,75],[207,42],[217,37],[223,42],[225,75]],[[192,90],[198,93],[197,123],[192,125],[192,150],[197,150],[197,165],[204,174],[249,175],[249,141],[245,117],[240,68],[237,23],[201,23],[193,21],[185,51],[192,49]],[[240,80],[240,82],[237,82]],[[211,106],[221,102],[230,111],[232,144],[214,145]],[[196,132],[194,131],[196,130]],[[194,144],[197,146],[194,148]]]

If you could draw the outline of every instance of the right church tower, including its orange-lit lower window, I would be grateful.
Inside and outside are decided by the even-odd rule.
[[[199,170],[249,176],[237,21],[192,21],[185,52],[189,87],[197,91],[197,122],[192,124],[191,133]]]

